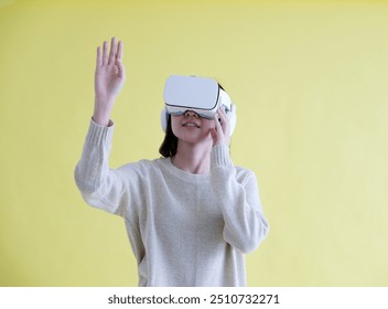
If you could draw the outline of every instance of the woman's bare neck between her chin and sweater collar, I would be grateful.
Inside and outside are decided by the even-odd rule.
[[[211,171],[211,151],[212,147],[180,141],[176,154],[171,158],[171,162],[176,168],[190,173],[208,173]]]

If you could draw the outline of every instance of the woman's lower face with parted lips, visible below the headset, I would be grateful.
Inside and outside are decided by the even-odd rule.
[[[196,143],[212,140],[211,129],[215,127],[215,122],[213,119],[200,117],[193,110],[187,110],[183,115],[172,115],[171,127],[179,139]]]

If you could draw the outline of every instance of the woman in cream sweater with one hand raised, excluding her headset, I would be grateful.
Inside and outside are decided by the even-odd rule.
[[[229,122],[169,117],[163,158],[109,169],[110,113],[125,82],[122,43],[97,49],[95,108],[75,181],[85,201],[125,219],[139,286],[245,286],[244,254],[269,226],[254,172],[229,158]],[[220,119],[220,121],[218,121]]]

